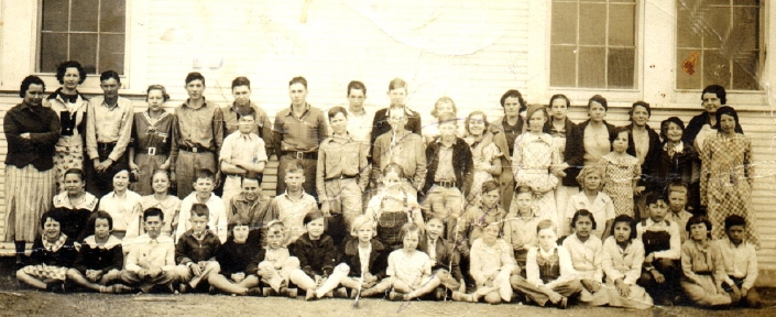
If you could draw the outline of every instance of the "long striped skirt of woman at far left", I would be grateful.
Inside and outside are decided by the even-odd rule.
[[[52,209],[55,183],[54,168],[6,166],[6,241],[33,242],[40,237],[41,216]]]

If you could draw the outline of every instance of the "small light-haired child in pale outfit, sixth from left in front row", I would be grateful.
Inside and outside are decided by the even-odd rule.
[[[288,288],[288,275],[293,271],[299,271],[299,259],[291,256],[288,249],[283,247],[283,241],[286,240],[283,222],[273,220],[266,227],[266,248],[253,256],[245,269],[245,274],[259,276],[276,294],[296,297],[297,289]],[[263,291],[265,296],[269,295],[269,289]]]

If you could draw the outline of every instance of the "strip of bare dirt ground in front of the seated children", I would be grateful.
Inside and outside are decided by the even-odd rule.
[[[464,304],[302,298],[234,297],[226,295],[103,295],[95,293],[52,294],[20,287],[13,273],[13,259],[0,258],[0,315],[2,316],[776,316],[776,289],[761,288],[762,309],[706,310],[687,306],[632,310],[608,307],[570,306],[567,310],[520,304]]]

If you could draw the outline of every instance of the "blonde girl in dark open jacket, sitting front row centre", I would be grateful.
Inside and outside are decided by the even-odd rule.
[[[353,219],[350,234],[353,239],[345,243],[342,263],[335,267],[336,271],[349,272],[348,276],[340,281],[340,284],[352,289],[351,297],[358,296],[359,291],[362,297],[378,294],[378,292],[370,289],[385,277],[391,250],[380,241],[372,239],[374,237],[373,222],[367,216],[362,215]]]

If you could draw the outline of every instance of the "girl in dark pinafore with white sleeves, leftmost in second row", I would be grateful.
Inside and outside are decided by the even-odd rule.
[[[65,210],[65,219],[63,219],[62,233],[72,237],[74,241],[83,241],[88,237],[87,232],[94,228],[89,228],[87,222],[89,216],[97,208],[98,199],[90,193],[86,192],[84,184],[84,171],[70,168],[64,175],[64,192],[54,196],[54,208]]]

